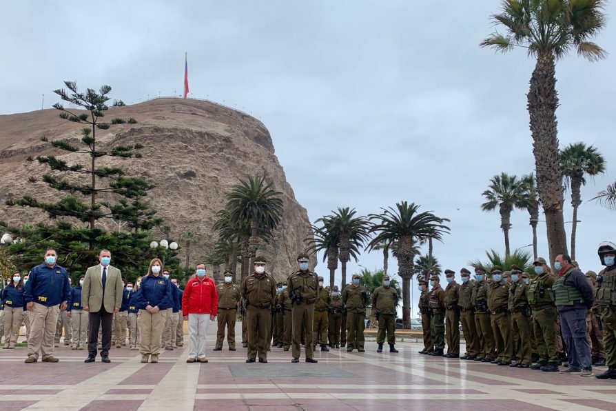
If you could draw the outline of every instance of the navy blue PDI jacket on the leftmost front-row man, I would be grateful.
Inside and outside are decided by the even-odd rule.
[[[68,273],[59,265],[42,263],[32,268],[23,296],[26,303],[34,301],[47,307],[68,301],[70,285]]]

